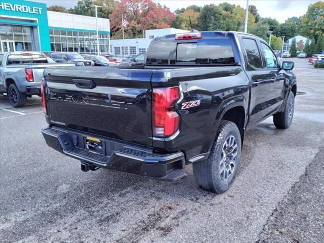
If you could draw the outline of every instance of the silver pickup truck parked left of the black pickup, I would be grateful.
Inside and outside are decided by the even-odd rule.
[[[55,63],[41,52],[0,53],[0,94],[6,93],[14,107],[26,105],[27,97],[41,95],[41,80],[47,67],[75,66]]]

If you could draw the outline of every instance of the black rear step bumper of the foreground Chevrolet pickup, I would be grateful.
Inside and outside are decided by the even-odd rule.
[[[139,145],[55,126],[44,127],[42,133],[48,146],[82,163],[159,180],[174,181],[186,176],[182,152],[159,154]],[[86,149],[87,136],[103,141],[102,153]]]

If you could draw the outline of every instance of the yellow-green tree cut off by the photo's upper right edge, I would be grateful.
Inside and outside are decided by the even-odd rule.
[[[324,32],[324,2],[309,5],[302,18],[301,34],[317,39]]]

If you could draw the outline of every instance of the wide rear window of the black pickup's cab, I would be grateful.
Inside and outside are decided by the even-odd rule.
[[[234,64],[233,48],[228,37],[154,42],[149,47],[146,59],[146,65]]]

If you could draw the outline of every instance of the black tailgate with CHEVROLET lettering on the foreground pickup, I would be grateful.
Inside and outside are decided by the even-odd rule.
[[[52,124],[151,145],[150,70],[46,69]]]

